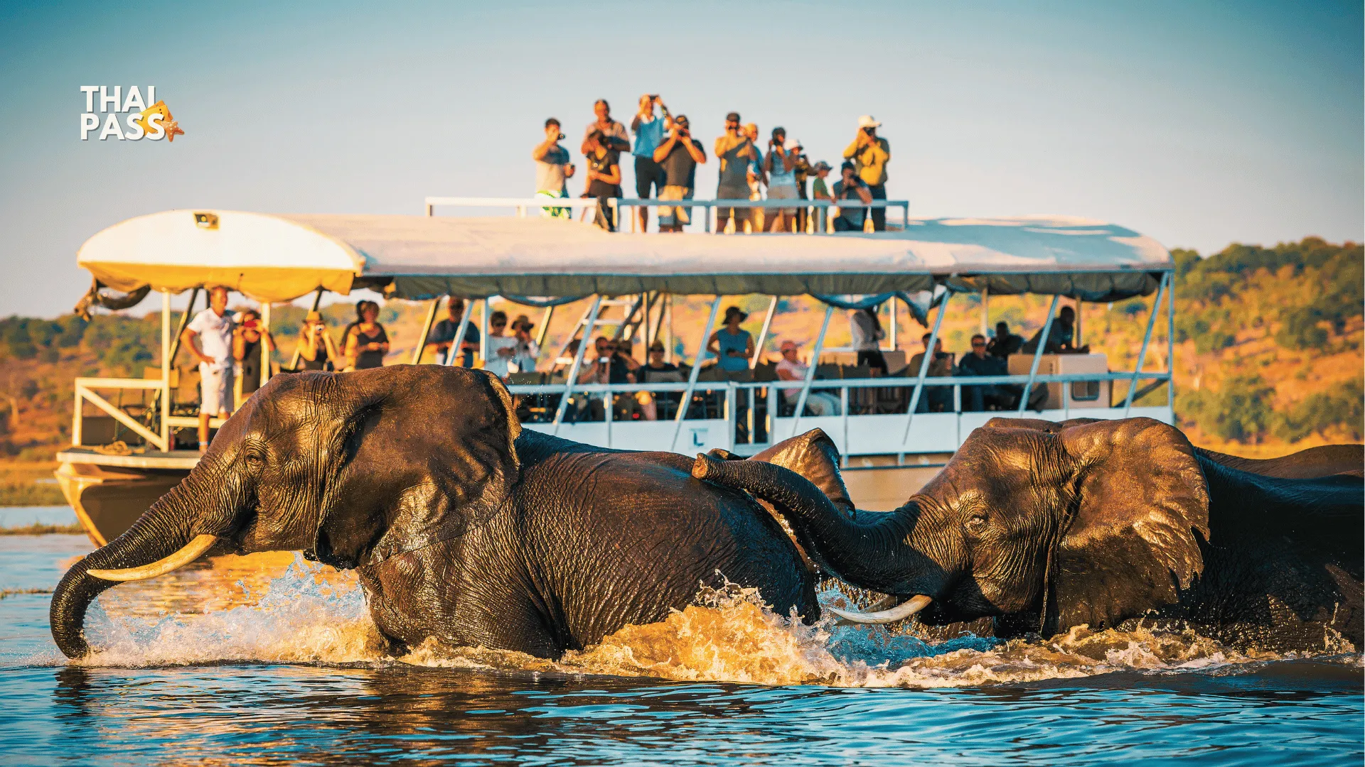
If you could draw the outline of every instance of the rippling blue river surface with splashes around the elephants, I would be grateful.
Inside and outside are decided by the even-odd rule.
[[[30,521],[0,512],[5,527]],[[87,621],[100,652],[71,665],[48,633],[49,596],[22,590],[51,590],[89,550],[82,536],[0,536],[0,763],[1365,759],[1361,656],[1340,648],[1246,655],[1143,631],[924,644],[803,626],[732,591],[554,663],[446,647],[390,658],[354,579],[292,554],[113,588]]]

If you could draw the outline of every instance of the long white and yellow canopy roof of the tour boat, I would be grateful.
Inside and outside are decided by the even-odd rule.
[[[1118,300],[1174,267],[1160,243],[1087,218],[912,220],[833,235],[612,233],[550,217],[268,214],[167,210],[94,235],[76,261],[100,283],[172,292],[225,285],[293,300],[370,287],[440,295],[883,295],[932,289]]]

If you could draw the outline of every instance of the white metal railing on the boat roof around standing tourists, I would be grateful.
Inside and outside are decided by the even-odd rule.
[[[863,201],[829,201],[829,199],[658,199],[658,198],[607,198],[607,206],[612,209],[609,216],[612,216],[613,227],[620,231],[621,228],[621,209],[622,207],[700,207],[704,212],[702,221],[703,232],[719,231],[715,227],[717,212],[723,209],[730,209],[732,217],[736,209],[804,209],[812,221],[812,232],[823,233],[829,229],[830,224],[830,209],[842,207],[898,207],[901,209],[901,228],[909,225],[910,221],[910,201],[908,199],[874,199],[872,202],[864,203]],[[547,198],[547,197],[429,197],[426,198],[426,214],[435,216],[435,207],[511,207],[516,210],[517,217],[524,218],[527,212],[534,212],[539,214],[541,210],[551,209],[597,209],[598,201],[591,197],[565,197],[565,198]],[[632,227],[635,218],[631,217]],[[801,232],[796,232],[801,233]]]

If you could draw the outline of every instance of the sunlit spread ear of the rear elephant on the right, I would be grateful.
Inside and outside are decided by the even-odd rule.
[[[1204,569],[1208,484],[1185,435],[1134,418],[1057,433],[1074,468],[1072,516],[1048,565],[1044,633],[1112,628],[1173,605]]]

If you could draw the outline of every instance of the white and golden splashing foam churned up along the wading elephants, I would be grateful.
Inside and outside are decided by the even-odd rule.
[[[278,570],[276,570],[278,572]],[[124,587],[127,588],[127,587]],[[657,624],[625,626],[597,647],[551,662],[520,652],[446,647],[427,640],[392,658],[369,618],[354,575],[296,557],[284,575],[253,590],[242,580],[235,606],[147,617],[93,606],[86,635],[98,666],[213,662],[408,663],[565,674],[643,676],[674,681],[763,685],[969,686],[1074,678],[1110,671],[1213,670],[1283,658],[1238,652],[1190,631],[1085,628],[1050,640],[962,636],[927,643],[880,626],[804,625],[767,609],[758,591],[703,588],[693,606]],[[820,595],[841,605],[838,591]],[[221,596],[213,605],[221,605]],[[1339,652],[1340,648],[1331,648]],[[1358,655],[1350,659],[1360,665]]]

